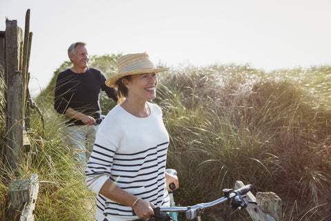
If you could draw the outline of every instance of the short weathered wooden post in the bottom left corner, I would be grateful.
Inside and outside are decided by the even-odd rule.
[[[37,201],[39,183],[36,173],[30,179],[13,180],[9,185],[8,220],[34,220],[34,206]]]

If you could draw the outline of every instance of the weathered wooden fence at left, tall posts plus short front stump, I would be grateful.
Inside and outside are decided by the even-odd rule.
[[[30,10],[26,12],[24,33],[17,26],[16,20],[6,19],[6,30],[0,32],[0,77],[6,84],[6,134],[4,135],[6,148],[1,154],[6,156],[4,159],[8,169],[14,173],[17,171],[17,165],[24,161],[24,152],[30,145],[26,126],[28,124],[30,127],[31,98],[28,90],[30,79],[28,68],[31,42]],[[6,220],[34,220],[38,189],[37,174],[32,174],[30,179],[10,182]]]

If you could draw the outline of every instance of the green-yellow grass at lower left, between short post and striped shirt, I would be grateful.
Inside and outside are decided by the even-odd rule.
[[[48,113],[51,110],[44,111]],[[23,162],[17,165],[18,171],[11,171],[3,164],[6,161],[1,162],[1,198],[8,200],[10,181],[28,179],[32,173],[37,173],[39,193],[34,220],[93,220],[94,195],[86,188],[83,171],[63,143],[62,119],[46,118],[46,129],[43,131],[39,116],[34,115],[31,125],[31,149]],[[1,145],[2,148],[5,146]],[[9,206],[8,202],[5,204],[6,200],[1,200],[0,220],[5,220]]]

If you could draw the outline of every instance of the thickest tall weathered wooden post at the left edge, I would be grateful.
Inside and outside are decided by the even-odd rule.
[[[17,21],[6,20],[7,160],[11,168],[23,157],[23,32]]]

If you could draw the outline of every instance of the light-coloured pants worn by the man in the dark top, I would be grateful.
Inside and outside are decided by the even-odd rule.
[[[83,164],[88,162],[98,128],[99,125],[74,125],[65,128],[68,146],[75,159]]]

